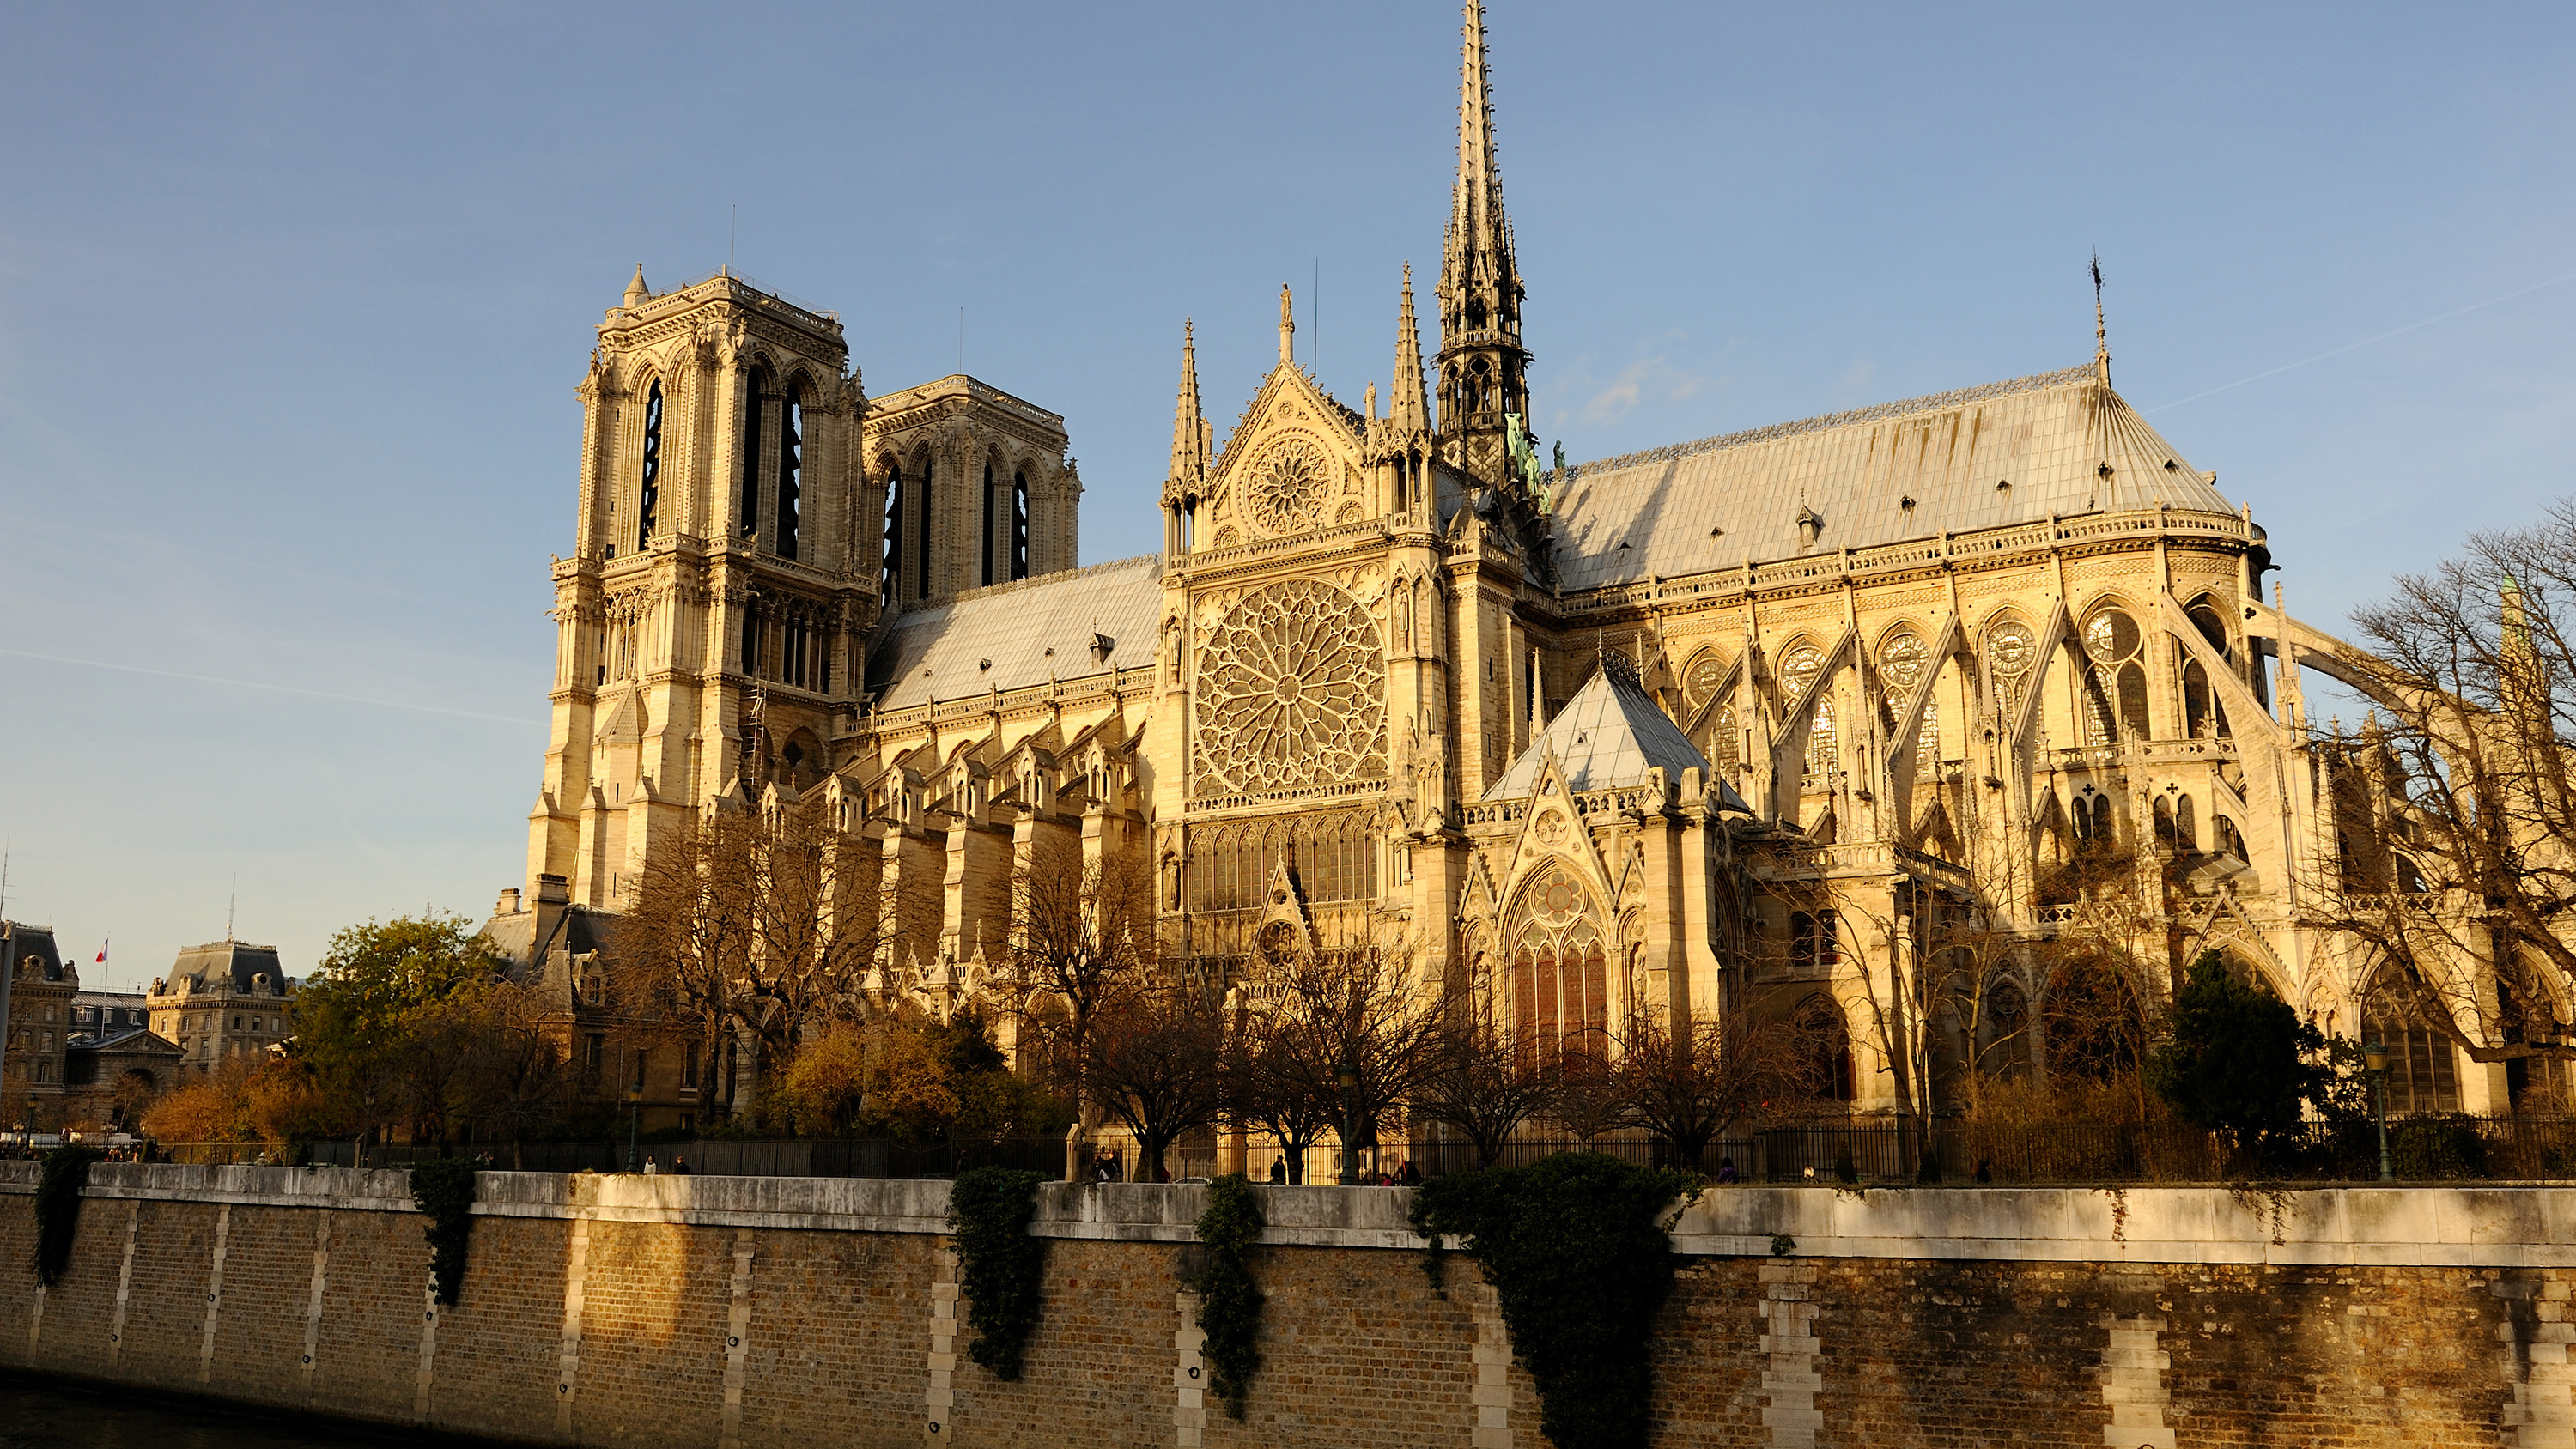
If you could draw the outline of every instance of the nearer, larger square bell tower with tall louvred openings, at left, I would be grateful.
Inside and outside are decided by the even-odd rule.
[[[840,319],[732,273],[657,296],[636,268],[580,396],[528,891],[616,909],[701,803],[822,782],[858,710],[876,515]]]

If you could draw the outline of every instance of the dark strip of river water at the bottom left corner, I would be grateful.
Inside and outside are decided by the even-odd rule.
[[[0,1374],[0,1449],[469,1449],[477,1444],[482,1441]]]

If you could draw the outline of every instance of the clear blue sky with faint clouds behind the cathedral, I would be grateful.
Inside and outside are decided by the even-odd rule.
[[[2568,15],[1499,0],[1538,432],[2071,365],[2099,250],[2120,391],[2342,628],[2576,492]],[[1100,561],[1159,543],[1182,317],[1221,430],[1283,281],[1324,383],[1383,386],[1455,154],[1448,5],[5,26],[5,911],[113,934],[118,986],[234,880],[294,970],[520,880],[572,389],[636,263],[732,245],[868,391],[953,371],[963,309],[966,371],[1066,417]]]

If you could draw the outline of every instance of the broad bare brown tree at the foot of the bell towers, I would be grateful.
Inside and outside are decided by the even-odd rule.
[[[878,857],[819,795],[706,811],[647,860],[618,927],[618,1009],[685,1027],[701,1081],[737,1029],[783,1063],[809,1027],[866,1014],[886,927]]]

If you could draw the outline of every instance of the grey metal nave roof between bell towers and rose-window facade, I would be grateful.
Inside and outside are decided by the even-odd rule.
[[[1041,574],[907,610],[868,646],[876,708],[902,710],[1154,661],[1162,553]],[[1103,659],[1095,636],[1108,638]]]

